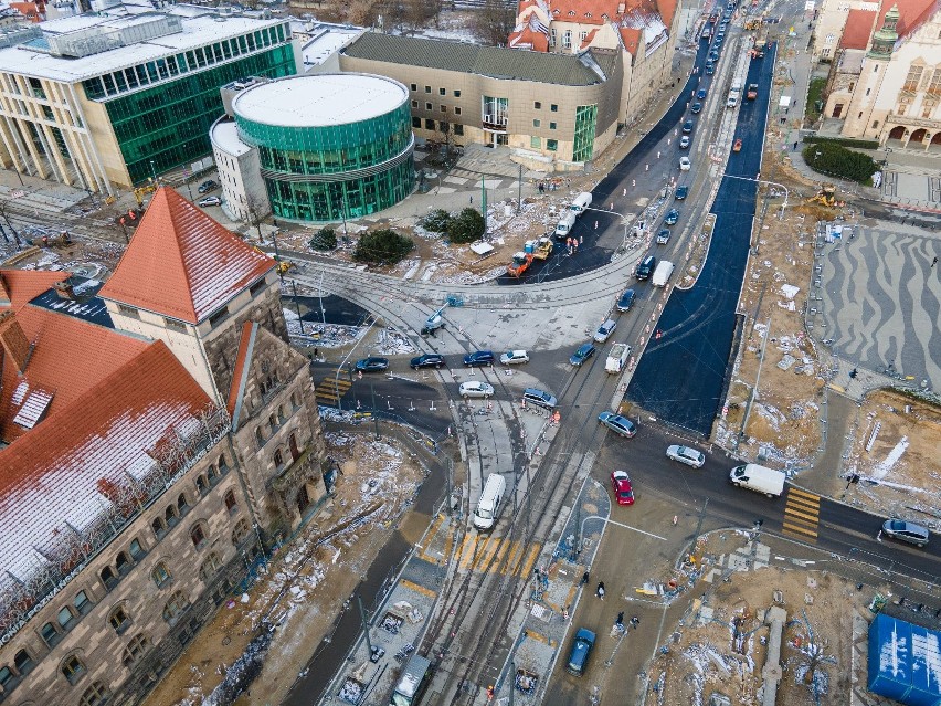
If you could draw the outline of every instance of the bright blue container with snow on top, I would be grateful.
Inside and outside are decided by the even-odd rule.
[[[941,633],[879,614],[869,625],[870,692],[906,706],[941,706]]]

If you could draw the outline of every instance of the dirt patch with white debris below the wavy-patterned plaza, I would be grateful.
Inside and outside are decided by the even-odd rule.
[[[938,449],[941,409],[892,390],[870,393],[859,409],[846,464],[846,473],[860,481],[845,499],[941,529]]]

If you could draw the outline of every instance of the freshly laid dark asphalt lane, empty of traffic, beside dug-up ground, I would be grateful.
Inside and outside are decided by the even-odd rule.
[[[716,226],[706,265],[689,291],[674,289],[658,328],[664,335],[644,351],[627,399],[678,426],[711,432],[727,375],[736,305],[748,262],[754,218],[754,179],[761,168],[768,95],[776,46],[749,66],[746,83],[759,84],[759,99],[741,105],[736,135],[743,147],[731,152],[711,212]]]

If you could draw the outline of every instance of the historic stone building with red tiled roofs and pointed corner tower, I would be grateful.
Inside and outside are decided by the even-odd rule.
[[[138,703],[316,509],[286,338],[274,261],[166,188],[104,286],[0,272],[4,706]]]

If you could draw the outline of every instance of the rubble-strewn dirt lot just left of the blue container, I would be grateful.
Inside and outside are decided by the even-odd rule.
[[[811,706],[812,684],[821,689],[820,703],[849,703],[853,617],[856,610],[870,617],[865,607],[871,587],[860,592],[833,573],[782,568],[730,572],[727,580],[717,576],[696,590],[706,587],[705,601],[696,599],[668,637],[668,652],[660,651],[648,666],[653,688],[645,706],[704,706],[713,692],[733,706],[760,704],[770,633],[763,613],[772,605],[787,612],[776,703]]]

